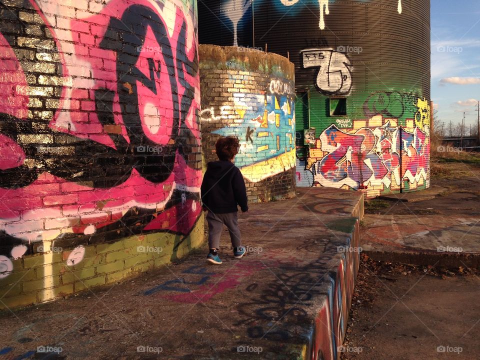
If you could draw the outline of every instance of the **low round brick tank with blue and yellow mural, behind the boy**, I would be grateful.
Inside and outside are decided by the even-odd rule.
[[[295,189],[293,64],[251,48],[200,45],[202,151],[215,161],[215,142],[236,136],[235,165],[248,200],[289,196]]]

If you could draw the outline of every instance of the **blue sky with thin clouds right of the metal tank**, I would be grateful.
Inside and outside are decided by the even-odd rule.
[[[436,121],[476,123],[480,100],[480,1],[431,0],[431,99]]]

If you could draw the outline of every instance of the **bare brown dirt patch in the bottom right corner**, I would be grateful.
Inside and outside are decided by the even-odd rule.
[[[340,359],[478,358],[479,275],[362,255]]]

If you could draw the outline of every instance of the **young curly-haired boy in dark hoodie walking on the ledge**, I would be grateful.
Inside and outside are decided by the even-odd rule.
[[[221,264],[218,249],[223,224],[230,233],[235,258],[242,257],[246,251],[241,245],[237,222],[237,204],[242,212],[248,211],[245,182],[238,167],[233,165],[239,147],[240,142],[236,137],[219,138],[215,144],[218,161],[208,162],[201,183],[203,210],[208,210],[206,221],[210,252],[206,260],[214,264]]]

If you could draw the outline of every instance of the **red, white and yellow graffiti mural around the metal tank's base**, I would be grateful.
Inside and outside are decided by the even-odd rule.
[[[406,96],[409,94],[397,98],[396,114],[407,114],[402,109],[405,104],[407,107],[417,104],[417,107],[416,111],[408,112],[414,117],[407,118],[405,125],[400,126],[398,118],[378,114],[367,120],[343,123],[346,126],[331,124],[322,130],[310,146],[308,163],[303,170],[297,168],[297,173],[302,174],[297,184],[308,183],[306,179],[311,172],[313,184],[366,190],[369,196],[385,189],[399,190],[400,186],[408,189],[426,186],[430,104],[421,98],[412,98],[410,104],[404,104],[399,99]],[[382,107],[388,108],[384,104]],[[299,161],[297,165],[301,167],[305,162]]]

